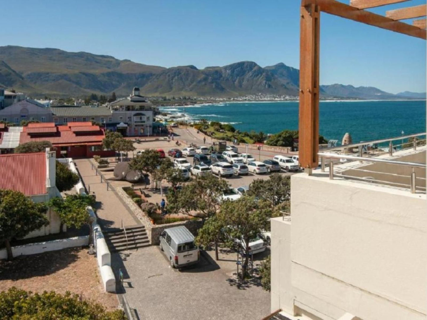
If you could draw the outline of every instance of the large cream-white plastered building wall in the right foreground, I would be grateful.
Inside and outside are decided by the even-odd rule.
[[[316,174],[316,173],[315,173]],[[274,288],[281,308],[290,291],[301,313],[338,319],[425,320],[426,196],[375,185],[307,176],[291,179],[291,288]],[[287,270],[287,226],[272,221],[272,254]],[[275,231],[276,230],[276,231]],[[272,295],[274,297],[274,295]],[[282,298],[283,297],[283,298]],[[277,297],[272,298],[277,305]]]

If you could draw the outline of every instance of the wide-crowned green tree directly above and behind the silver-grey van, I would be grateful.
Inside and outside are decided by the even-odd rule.
[[[225,179],[217,179],[211,174],[198,176],[181,190],[171,190],[167,194],[168,208],[172,213],[182,213],[203,218],[215,215],[222,202],[222,193],[230,188]]]

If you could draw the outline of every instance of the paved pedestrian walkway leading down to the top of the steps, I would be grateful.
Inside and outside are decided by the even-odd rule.
[[[95,170],[92,170],[88,159],[78,159],[74,162],[86,188],[88,189],[90,186],[91,192],[95,192],[97,196],[97,216],[102,228],[121,227],[122,219],[125,226],[140,224],[140,221],[122,202],[117,193],[111,188],[107,191],[107,184],[104,180],[101,182],[101,177],[96,175]]]

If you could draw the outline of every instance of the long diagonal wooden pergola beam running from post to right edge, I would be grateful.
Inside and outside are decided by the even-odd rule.
[[[360,10],[339,1],[301,0],[301,6],[310,6],[313,4],[317,4],[321,12],[326,12],[330,15],[337,15],[342,18],[366,23],[371,26],[377,26],[382,29],[403,33],[405,35],[411,35],[412,37],[416,38],[427,39],[426,30],[404,22],[394,21],[393,19],[386,18],[382,15],[377,15],[366,10]]]

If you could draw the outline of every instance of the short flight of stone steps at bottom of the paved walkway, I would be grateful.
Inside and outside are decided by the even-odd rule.
[[[126,249],[126,236],[121,228],[110,228],[103,230],[105,242],[107,243],[110,252],[118,252],[124,250],[135,250],[142,247],[148,247],[150,241],[144,226],[125,226],[126,235],[128,238],[128,246]]]

